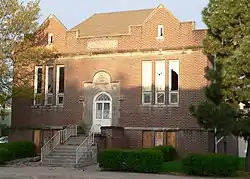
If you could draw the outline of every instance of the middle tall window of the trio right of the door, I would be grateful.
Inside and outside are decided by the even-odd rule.
[[[165,104],[165,60],[155,62],[155,103]]]

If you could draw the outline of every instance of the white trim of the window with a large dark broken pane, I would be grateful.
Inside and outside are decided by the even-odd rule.
[[[178,65],[178,90],[171,90],[171,88],[172,88],[172,76],[171,76],[171,65],[170,65],[170,63],[171,62],[178,62],[179,63],[179,65]],[[179,94],[179,88],[180,88],[180,60],[169,60],[169,69],[168,69],[168,77],[169,77],[169,79],[168,79],[168,81],[169,81],[169,97],[168,97],[168,102],[169,102],[169,105],[179,105],[179,96],[180,96],[180,94]],[[176,103],[172,103],[171,102],[171,94],[173,94],[173,93],[176,93],[177,94],[177,102]]]

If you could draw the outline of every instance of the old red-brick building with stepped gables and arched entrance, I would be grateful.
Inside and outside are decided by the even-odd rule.
[[[163,5],[95,14],[70,30],[54,15],[44,24],[47,46],[61,56],[35,67],[34,100],[13,99],[12,126],[116,126],[126,147],[213,149],[212,133],[189,114],[208,85],[206,30],[180,22]],[[220,150],[237,152],[234,142],[222,142]]]

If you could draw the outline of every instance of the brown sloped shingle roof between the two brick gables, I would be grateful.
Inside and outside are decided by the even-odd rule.
[[[71,30],[78,30],[79,36],[128,34],[129,26],[141,25],[153,11],[143,9],[94,14]]]

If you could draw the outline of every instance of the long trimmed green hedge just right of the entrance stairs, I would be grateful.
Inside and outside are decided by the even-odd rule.
[[[97,160],[105,170],[158,173],[162,169],[163,155],[152,149],[104,150]]]

